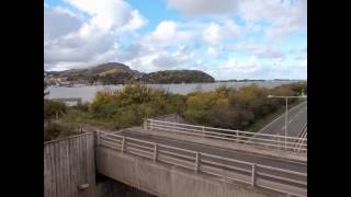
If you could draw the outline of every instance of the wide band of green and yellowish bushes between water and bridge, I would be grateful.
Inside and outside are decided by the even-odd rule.
[[[285,106],[284,100],[268,99],[269,94],[299,95],[303,89],[307,90],[307,84],[274,89],[250,85],[239,90],[220,86],[212,92],[180,95],[131,84],[120,91],[98,92],[91,104],[70,107],[64,119],[120,129],[138,126],[143,118],[178,113],[192,124],[245,130]]]

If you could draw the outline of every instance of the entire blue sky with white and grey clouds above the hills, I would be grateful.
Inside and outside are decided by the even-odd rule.
[[[44,69],[307,79],[307,0],[44,0]]]

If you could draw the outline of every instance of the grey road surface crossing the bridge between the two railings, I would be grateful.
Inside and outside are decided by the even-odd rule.
[[[126,144],[129,144],[129,142],[133,142],[134,144],[138,143],[139,146],[141,146],[143,142],[138,142],[138,141],[133,140],[133,139],[137,139],[137,140],[155,142],[155,143],[158,143],[158,144],[165,144],[165,146],[171,146],[171,147],[176,147],[176,148],[192,150],[192,151],[196,151],[196,152],[201,152],[201,153],[211,154],[211,155],[214,155],[214,157],[229,158],[229,159],[234,159],[234,160],[239,160],[239,161],[245,161],[245,162],[250,162],[250,163],[256,163],[256,164],[261,164],[261,165],[268,165],[268,166],[272,166],[272,167],[279,167],[279,169],[282,169],[282,170],[288,170],[288,171],[294,171],[294,172],[299,172],[299,173],[307,174],[307,162],[303,162],[303,161],[292,161],[292,160],[286,160],[286,159],[261,155],[261,154],[252,153],[252,152],[228,150],[228,149],[211,147],[211,146],[206,146],[206,144],[202,144],[202,143],[185,142],[185,141],[181,141],[181,140],[173,140],[173,139],[168,139],[168,138],[162,138],[162,137],[156,137],[156,136],[140,134],[139,131],[135,131],[135,130],[131,130],[131,129],[124,130],[124,131],[120,131],[118,134],[115,134],[115,135],[129,137],[129,138],[126,139]],[[143,146],[147,146],[147,144],[144,143]],[[128,147],[128,146],[126,146],[126,147]],[[147,147],[149,147],[149,149],[154,148],[151,144],[148,144]],[[159,146],[158,150],[159,151],[171,151],[171,152],[174,152],[174,153],[178,153],[178,154],[193,157],[191,152],[184,152],[184,151],[180,151],[180,150],[177,151],[174,149],[170,149],[170,148],[162,147],[162,146]],[[126,151],[128,151],[128,148],[126,148]],[[248,172],[242,172],[242,171],[239,171],[239,170],[233,170],[231,169],[230,173],[229,172],[228,173],[229,174],[236,173],[236,174],[250,176],[251,165],[240,164],[240,163],[237,163],[237,162],[230,162],[230,161],[225,161],[225,160],[217,160],[215,158],[207,157],[207,155],[204,155],[204,154],[202,154],[201,158],[202,158],[202,160],[207,160],[207,161],[212,161],[212,162],[219,162],[219,163],[222,163],[224,165],[231,165],[234,167],[246,169]],[[214,165],[213,167],[218,167],[218,166]],[[304,182],[304,183],[307,182],[307,176],[294,175],[294,174],[280,172],[280,171],[275,171],[275,170],[270,170],[270,169],[264,169],[264,167],[262,169],[259,165],[257,165],[257,167],[258,167],[258,171],[260,171],[263,174],[265,173],[265,174],[270,174],[270,175],[273,175],[273,176],[276,176],[276,177],[282,177],[282,178],[292,178],[292,179],[295,179],[297,182]],[[219,167],[218,170],[220,171],[220,169],[222,167]],[[292,182],[280,179],[280,178],[276,179],[276,177],[265,176],[264,178],[267,181],[275,181],[275,182],[278,182],[280,184],[287,184],[290,186],[295,187],[295,189],[296,188],[297,189],[307,189],[306,185],[301,185],[301,183],[292,183]],[[291,192],[294,192],[294,189],[291,190]]]

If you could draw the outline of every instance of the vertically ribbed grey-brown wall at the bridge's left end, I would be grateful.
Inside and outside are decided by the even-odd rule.
[[[44,143],[44,196],[95,197],[94,135]]]

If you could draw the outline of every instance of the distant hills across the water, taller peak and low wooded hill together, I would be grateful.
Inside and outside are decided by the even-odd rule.
[[[47,72],[55,78],[66,79],[71,83],[102,83],[102,84],[125,84],[134,81],[141,83],[196,83],[214,82],[210,74],[197,70],[165,70],[150,73],[143,73],[132,70],[129,67],[109,62],[84,69],[71,69],[57,72]]]

